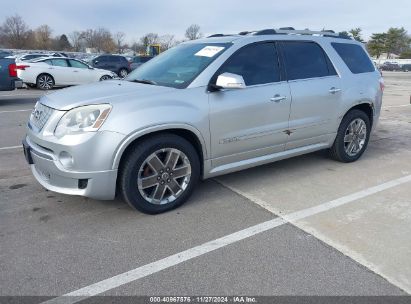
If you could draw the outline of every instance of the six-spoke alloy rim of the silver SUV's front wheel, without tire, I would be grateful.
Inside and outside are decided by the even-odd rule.
[[[149,155],[138,172],[137,185],[143,198],[163,205],[177,199],[187,188],[191,164],[180,150],[165,148]]]

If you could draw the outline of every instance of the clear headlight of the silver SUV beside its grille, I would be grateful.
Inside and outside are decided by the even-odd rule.
[[[100,104],[75,108],[60,119],[54,135],[63,137],[70,134],[97,131],[111,111],[111,105]]]

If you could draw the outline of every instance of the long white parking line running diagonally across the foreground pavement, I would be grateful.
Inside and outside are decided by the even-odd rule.
[[[275,219],[272,219],[270,221],[264,222],[257,224],[255,226],[251,226],[249,228],[234,232],[232,234],[223,236],[219,239],[209,241],[207,243],[204,243],[202,245],[187,249],[185,251],[179,252],[177,254],[171,255],[169,257],[166,257],[164,259],[152,262],[150,264],[146,264],[141,267],[137,267],[135,269],[132,269],[130,271],[121,273],[119,275],[116,275],[114,277],[105,279],[103,281],[91,284],[89,286],[80,288],[78,290],[72,291],[70,293],[64,294],[60,297],[53,298],[49,301],[43,302],[47,304],[71,304],[71,303],[76,303],[79,301],[82,301],[86,298],[101,294],[103,292],[106,292],[108,290],[111,290],[113,288],[122,286],[124,284],[136,281],[138,279],[144,278],[146,276],[149,276],[151,274],[157,273],[159,271],[162,271],[164,269],[170,268],[172,266],[178,265],[180,263],[183,263],[185,261],[191,260],[193,258],[202,256],[206,253],[209,253],[211,251],[217,250],[219,248],[223,248],[227,245],[236,243],[238,241],[244,240],[246,238],[249,238],[251,236],[254,236],[256,234],[262,233],[264,231],[271,230],[275,227],[281,226],[283,224],[286,224],[288,221],[296,221],[300,220],[324,211],[328,211],[330,209],[348,204],[350,202],[353,202],[355,200],[358,200],[360,198],[364,198],[366,196],[387,190],[389,188],[407,183],[411,181],[411,175],[407,175],[398,179],[391,180],[389,182],[370,187],[367,189],[364,189],[362,191],[338,198],[336,200],[332,200],[311,208],[303,209],[300,211],[292,212],[290,214],[284,215],[282,217],[278,217]],[[225,185],[226,186],[226,185]],[[228,187],[231,188],[231,187]],[[236,192],[240,193],[243,195],[241,191],[238,191],[235,189]],[[245,195],[246,196],[246,195]],[[247,196],[246,196],[247,197]]]

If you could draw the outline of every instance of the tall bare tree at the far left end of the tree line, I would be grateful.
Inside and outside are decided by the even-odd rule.
[[[26,44],[29,28],[19,15],[7,17],[1,27],[0,36],[6,45],[20,49]]]

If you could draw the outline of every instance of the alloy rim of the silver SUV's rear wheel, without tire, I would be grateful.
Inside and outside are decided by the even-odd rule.
[[[349,156],[357,155],[367,139],[367,125],[361,118],[354,119],[347,127],[344,136],[344,149]]]

